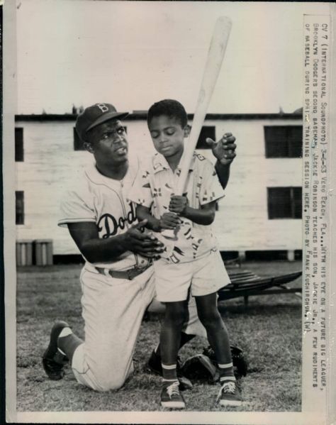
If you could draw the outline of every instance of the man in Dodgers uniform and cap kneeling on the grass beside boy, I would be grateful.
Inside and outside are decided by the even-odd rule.
[[[82,269],[82,316],[85,341],[64,321],[50,333],[43,355],[48,377],[60,380],[70,363],[77,381],[97,391],[120,388],[133,372],[133,353],[142,316],[155,297],[153,259],[163,251],[147,221],[137,222],[128,194],[138,171],[137,158],[128,156],[128,140],[121,119],[128,114],[111,104],[86,108],[76,122],[84,147],[95,162],[77,174],[62,201],[60,226],[66,226],[86,263]],[[215,169],[223,187],[235,158],[235,138],[226,134],[215,143]],[[197,319],[194,298],[189,303],[181,345],[205,335]],[[159,372],[159,347],[150,366]],[[184,384],[191,383],[184,380]]]

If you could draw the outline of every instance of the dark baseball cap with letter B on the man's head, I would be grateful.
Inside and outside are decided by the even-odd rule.
[[[85,140],[86,132],[99,124],[116,118],[125,118],[128,112],[118,112],[111,104],[94,104],[84,109],[77,117],[76,130],[79,137]]]

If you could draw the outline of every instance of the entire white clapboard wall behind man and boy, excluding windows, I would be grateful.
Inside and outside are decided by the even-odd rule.
[[[125,121],[130,150],[152,153],[144,118]],[[302,248],[301,220],[269,220],[267,187],[301,186],[300,158],[265,158],[264,126],[300,125],[293,118],[233,118],[207,120],[216,137],[232,132],[237,158],[231,167],[226,196],[220,201],[213,227],[220,250],[296,250]],[[55,255],[78,253],[67,229],[57,227],[62,192],[80,178],[92,161],[86,151],[74,151],[74,121],[16,118],[23,127],[24,162],[16,162],[16,190],[24,191],[25,223],[16,226],[18,239],[53,241]],[[203,155],[213,160],[208,150]],[[214,162],[214,160],[213,160]]]

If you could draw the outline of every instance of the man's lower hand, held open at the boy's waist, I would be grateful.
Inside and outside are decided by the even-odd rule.
[[[164,245],[145,228],[146,223],[147,220],[142,220],[123,233],[125,246],[128,250],[144,257],[159,258],[159,254],[164,250]]]

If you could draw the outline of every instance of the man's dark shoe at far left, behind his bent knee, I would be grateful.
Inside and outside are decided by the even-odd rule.
[[[58,336],[64,328],[69,328],[66,321],[57,321],[54,326],[52,326],[49,346],[47,346],[42,358],[45,373],[54,381],[62,379],[65,375],[63,368],[69,361],[67,356],[58,350],[57,346]]]

